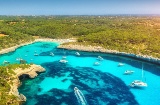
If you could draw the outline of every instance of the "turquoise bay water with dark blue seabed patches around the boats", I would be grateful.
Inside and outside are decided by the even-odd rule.
[[[3,62],[19,63],[23,58],[27,63],[43,66],[46,72],[36,78],[21,78],[19,92],[27,97],[24,105],[78,105],[74,87],[78,87],[88,105],[157,105],[160,103],[160,66],[116,55],[79,52],[57,49],[58,44],[38,42],[18,48],[15,52],[0,55]],[[50,53],[53,52],[54,56]],[[34,54],[38,54],[35,56]],[[98,61],[102,56],[104,60]],[[68,63],[60,63],[67,56]],[[100,65],[93,65],[94,62]],[[123,66],[118,66],[119,63]],[[133,80],[147,82],[146,88],[130,88]],[[134,70],[132,75],[124,75],[125,70]]]

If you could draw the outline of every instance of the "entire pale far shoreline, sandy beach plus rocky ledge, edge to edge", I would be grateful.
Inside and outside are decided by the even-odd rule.
[[[74,39],[74,38],[69,38],[69,39],[39,38],[39,39],[35,39],[34,41],[31,41],[28,43],[24,43],[24,44],[20,44],[20,45],[16,45],[16,46],[13,46],[10,48],[3,49],[0,51],[0,55],[6,54],[9,52],[13,52],[19,47],[26,46],[26,45],[29,45],[29,44],[32,44],[35,42],[55,42],[55,43],[60,44],[57,48],[63,48],[63,49],[68,49],[68,50],[87,51],[87,52],[101,52],[101,53],[115,54],[115,55],[132,57],[132,58],[148,61],[151,63],[160,64],[160,58],[155,58],[155,57],[148,56],[148,55],[119,52],[117,50],[105,49],[100,46],[91,46],[91,45],[84,46],[84,45],[76,45],[76,44],[75,45],[73,45],[73,44],[63,45],[64,43],[68,43],[68,42],[76,42],[76,39]]]

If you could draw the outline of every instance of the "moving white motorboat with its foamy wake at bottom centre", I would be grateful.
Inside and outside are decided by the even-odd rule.
[[[87,101],[86,101],[83,93],[77,87],[74,88],[74,93],[77,97],[77,100],[78,100],[79,104],[87,105]]]

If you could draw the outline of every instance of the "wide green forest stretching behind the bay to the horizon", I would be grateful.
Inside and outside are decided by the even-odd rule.
[[[0,38],[0,49],[31,36],[76,37],[81,44],[160,58],[160,17],[1,16],[0,33],[9,35]]]

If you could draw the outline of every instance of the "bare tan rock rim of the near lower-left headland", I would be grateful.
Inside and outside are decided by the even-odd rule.
[[[18,87],[20,86],[20,80],[19,80],[19,76],[21,75],[29,75],[30,78],[34,78],[37,76],[37,72],[44,72],[45,69],[43,67],[41,67],[40,65],[35,65],[32,64],[30,65],[29,68],[17,68],[16,70],[14,70],[15,74],[14,75],[14,80],[12,81],[13,84],[11,84],[11,89],[9,94],[13,94],[15,96],[17,96],[19,98],[18,101],[22,102],[22,101],[26,101],[26,97],[23,94],[19,94],[18,92]]]

